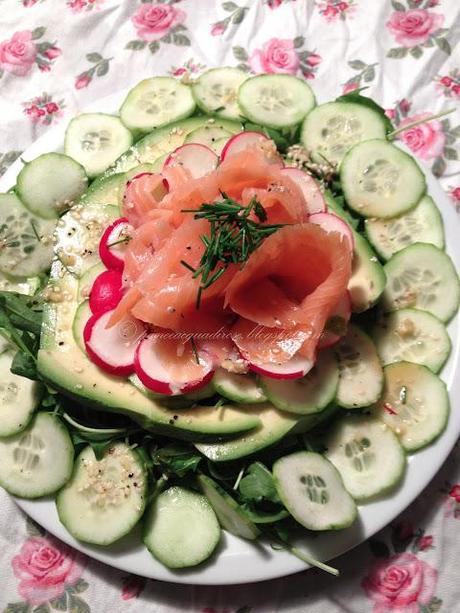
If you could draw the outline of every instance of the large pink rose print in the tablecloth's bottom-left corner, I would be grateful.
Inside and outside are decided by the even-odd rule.
[[[31,605],[61,596],[66,586],[80,579],[83,556],[53,538],[29,538],[12,562],[19,579],[18,592]]]

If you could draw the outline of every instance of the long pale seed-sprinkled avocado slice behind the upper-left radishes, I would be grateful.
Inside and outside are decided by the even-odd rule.
[[[165,153],[171,153],[171,151],[183,145],[190,132],[205,126],[221,127],[231,134],[236,134],[243,129],[241,124],[228,119],[209,118],[206,115],[189,117],[188,119],[171,123],[164,128],[153,130],[150,134],[141,138],[140,141],[119,157],[115,164],[107,169],[102,176],[126,172],[138,164],[152,163]]]

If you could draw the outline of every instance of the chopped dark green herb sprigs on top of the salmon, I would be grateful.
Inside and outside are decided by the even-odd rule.
[[[182,209],[183,213],[193,213],[195,219],[209,222],[209,236],[203,234],[200,239],[205,249],[197,268],[185,260],[181,264],[193,274],[201,277],[196,299],[196,308],[200,308],[202,292],[221,277],[231,264],[244,264],[270,234],[284,224],[264,224],[267,212],[261,203],[252,198],[243,206],[224,192],[220,202],[204,203],[199,209]],[[251,219],[254,213],[257,220]]]

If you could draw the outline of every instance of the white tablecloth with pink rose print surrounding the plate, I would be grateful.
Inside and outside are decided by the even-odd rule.
[[[459,0],[0,0],[0,173],[89,102],[207,67],[303,75],[320,101],[367,86],[460,208]],[[102,109],[103,110],[103,109]],[[454,407],[455,409],[456,407]],[[0,492],[0,604],[8,613],[460,611],[460,448],[387,529],[317,571],[235,587],[127,576],[27,520]]]

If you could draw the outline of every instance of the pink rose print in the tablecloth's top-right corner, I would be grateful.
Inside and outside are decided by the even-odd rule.
[[[443,15],[425,9],[413,9],[395,11],[386,26],[397,43],[403,47],[415,47],[425,43],[443,22]]]

